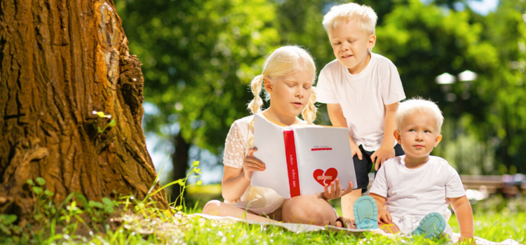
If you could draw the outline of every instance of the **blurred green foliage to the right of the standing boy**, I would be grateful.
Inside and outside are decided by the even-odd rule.
[[[396,64],[407,97],[431,98],[443,109],[444,147],[434,153],[457,165],[459,172],[526,170],[518,151],[525,142],[514,137],[525,130],[520,107],[524,8],[523,3],[503,1],[496,13],[481,16],[470,9],[459,12],[413,0],[396,6],[377,28],[376,51]],[[465,70],[475,71],[478,78],[452,85],[435,82],[441,73]],[[456,99],[448,101],[447,94]]]

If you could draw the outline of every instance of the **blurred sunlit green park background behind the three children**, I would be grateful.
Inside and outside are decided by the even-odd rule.
[[[143,126],[161,184],[183,178],[198,160],[199,179],[210,185],[199,190],[212,194],[194,191],[187,202],[220,198],[224,139],[249,115],[250,80],[281,45],[308,49],[318,72],[335,59],[321,21],[344,2],[115,0],[130,52],[143,63]],[[473,183],[489,176],[473,185],[473,202],[525,195],[525,0],[356,2],[376,10],[372,51],[398,67],[406,96],[443,110],[433,155]],[[325,106],[318,108],[316,123],[330,125]],[[173,187],[167,193],[177,196]]]

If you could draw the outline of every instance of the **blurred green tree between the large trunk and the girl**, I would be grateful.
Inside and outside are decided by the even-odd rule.
[[[151,103],[144,125],[173,146],[170,179],[184,178],[192,146],[221,154],[231,123],[248,114],[248,84],[278,45],[274,6],[264,0],[124,0],[116,6],[133,40],[130,50],[144,62]],[[173,186],[172,201],[179,190]]]

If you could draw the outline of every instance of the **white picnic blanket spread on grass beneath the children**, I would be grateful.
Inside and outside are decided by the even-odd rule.
[[[313,232],[317,230],[332,230],[332,231],[339,231],[344,230],[347,232],[374,232],[377,234],[382,234],[386,236],[396,236],[393,234],[388,234],[380,229],[374,229],[374,230],[363,230],[363,229],[349,229],[349,228],[337,228],[335,226],[318,226],[318,225],[305,225],[305,224],[295,224],[295,223],[270,223],[270,222],[255,222],[255,221],[247,221],[242,220],[240,218],[234,218],[234,217],[220,217],[220,216],[211,216],[207,214],[189,214],[188,217],[192,216],[199,216],[202,218],[207,218],[209,220],[224,220],[224,221],[238,221],[238,222],[246,222],[249,224],[254,225],[276,225],[281,226],[282,228],[285,228],[287,230],[290,230],[291,232]],[[459,233],[453,233],[452,242],[457,242],[460,238]],[[518,241],[515,241],[513,239],[506,239],[504,241],[496,242],[496,241],[489,241],[487,239],[483,239],[480,237],[475,237],[476,244],[478,245],[497,245],[497,244],[503,244],[503,245],[521,245],[518,243]]]

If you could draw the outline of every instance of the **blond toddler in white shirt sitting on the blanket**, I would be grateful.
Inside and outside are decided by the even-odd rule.
[[[473,238],[473,211],[457,171],[446,160],[429,155],[442,135],[438,106],[424,99],[400,103],[394,136],[405,155],[385,162],[372,183],[379,227],[385,232],[451,236],[451,204],[461,239]]]

